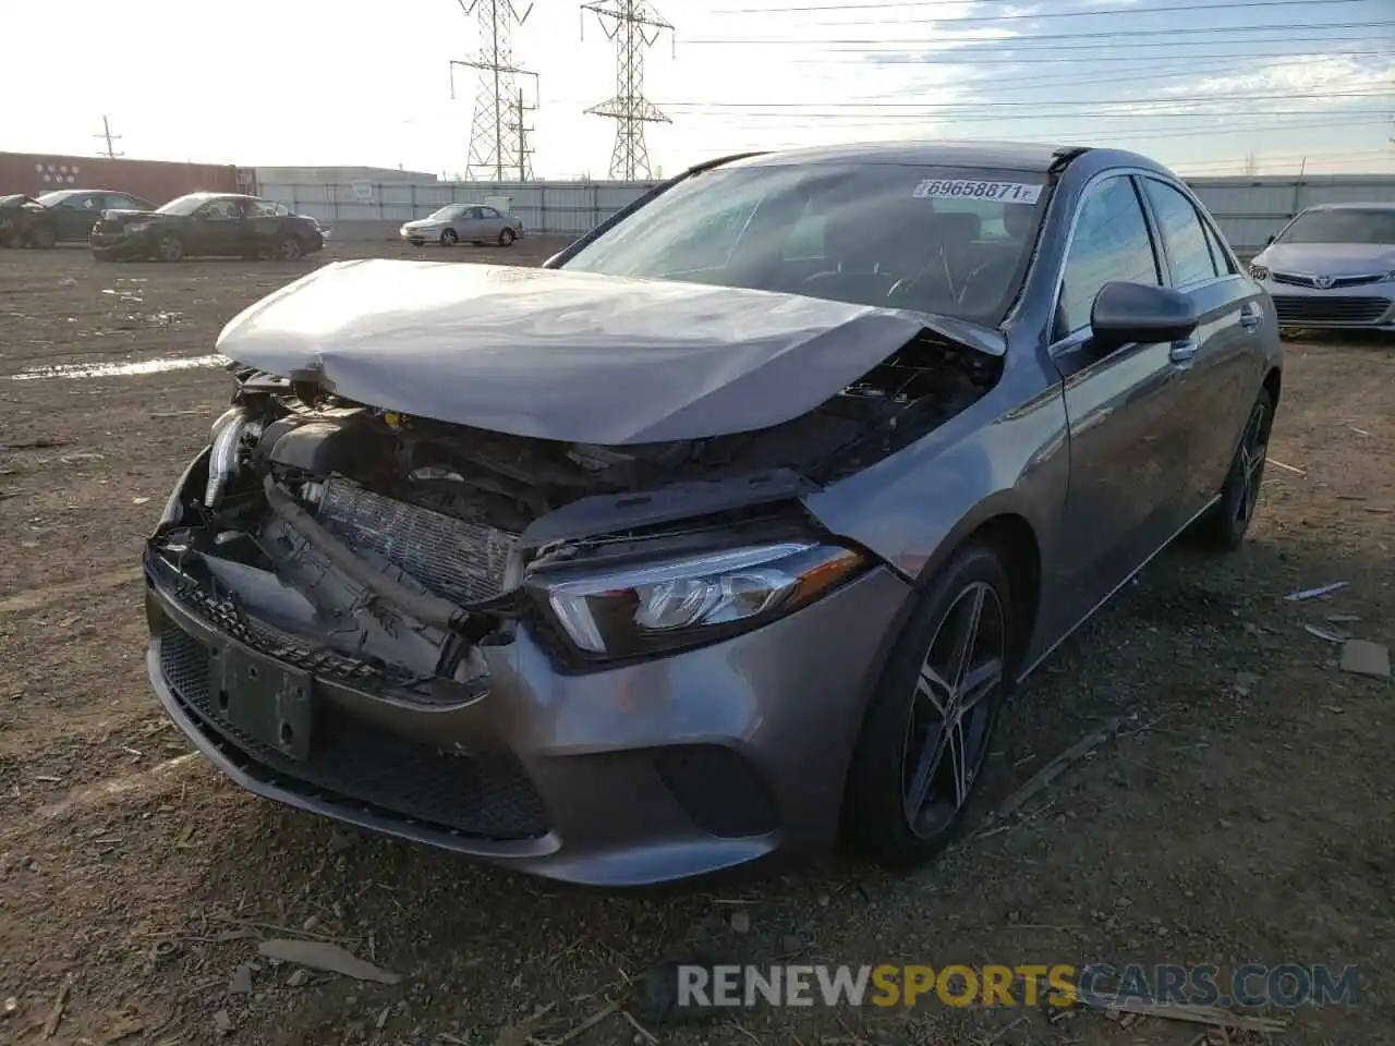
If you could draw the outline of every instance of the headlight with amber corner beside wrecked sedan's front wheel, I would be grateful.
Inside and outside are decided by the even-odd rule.
[[[810,543],[748,545],[527,584],[587,657],[632,657],[721,639],[808,605],[864,556]]]

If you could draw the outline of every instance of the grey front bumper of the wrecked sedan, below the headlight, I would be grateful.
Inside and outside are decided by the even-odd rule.
[[[304,660],[272,657],[289,654],[265,630],[254,646],[234,639],[149,552],[145,577],[155,692],[248,791],[614,887],[827,848],[866,697],[911,605],[905,582],[876,569],[756,632],[583,675],[554,667],[523,626],[484,651],[488,690],[456,703],[405,702],[371,679],[306,672],[312,725],[308,755],[294,759],[234,727],[218,702],[230,655],[268,672],[304,669]]]

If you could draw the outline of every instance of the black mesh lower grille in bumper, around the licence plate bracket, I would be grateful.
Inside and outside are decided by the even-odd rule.
[[[287,791],[492,840],[547,833],[543,799],[513,756],[442,752],[318,702],[310,759],[296,763],[215,714],[208,650],[173,625],[160,630],[160,672],[204,736]]]

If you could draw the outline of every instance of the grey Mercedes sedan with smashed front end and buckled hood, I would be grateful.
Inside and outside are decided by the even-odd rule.
[[[1187,187],[1036,145],[728,158],[216,347],[144,558],[165,710],[258,795],[608,886],[928,861],[1009,690],[1180,533],[1240,545],[1281,392]]]

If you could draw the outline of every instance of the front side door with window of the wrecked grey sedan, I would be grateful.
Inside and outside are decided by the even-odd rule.
[[[1110,282],[1162,286],[1158,244],[1129,173],[1091,183],[1062,269],[1052,361],[1070,432],[1064,509],[1064,601],[1071,619],[1106,598],[1176,529],[1187,476],[1169,343],[1094,342],[1095,296]]]

